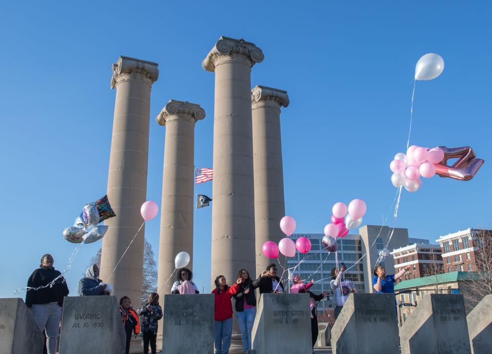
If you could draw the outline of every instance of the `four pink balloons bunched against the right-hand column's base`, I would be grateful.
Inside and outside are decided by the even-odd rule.
[[[311,241],[307,237],[300,237],[296,243],[289,239],[289,236],[296,230],[296,220],[288,215],[280,220],[280,229],[287,236],[280,240],[279,245],[273,241],[266,241],[262,246],[262,252],[265,257],[278,258],[282,253],[285,257],[294,257],[296,249],[300,253],[308,253],[311,250]]]

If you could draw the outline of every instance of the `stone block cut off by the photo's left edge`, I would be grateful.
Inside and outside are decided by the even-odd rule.
[[[43,354],[43,344],[43,332],[24,301],[0,299],[0,353]]]

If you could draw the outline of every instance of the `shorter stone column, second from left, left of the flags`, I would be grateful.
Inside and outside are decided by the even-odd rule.
[[[193,151],[194,128],[205,117],[200,105],[171,100],[156,117],[166,126],[162,178],[161,238],[159,243],[159,296],[171,293],[174,258],[181,251],[193,260]],[[169,281],[166,284],[166,280]]]

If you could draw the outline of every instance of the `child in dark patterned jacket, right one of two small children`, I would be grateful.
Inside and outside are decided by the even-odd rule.
[[[152,354],[155,354],[157,340],[157,321],[162,319],[162,307],[159,305],[159,294],[151,292],[148,301],[136,312],[142,316],[142,334],[144,337],[144,354],[149,354],[149,344]]]

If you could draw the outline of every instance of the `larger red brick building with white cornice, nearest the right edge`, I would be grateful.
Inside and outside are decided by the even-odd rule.
[[[476,235],[483,230],[468,228],[439,237],[442,260],[446,273],[454,271],[477,271],[475,252]]]

